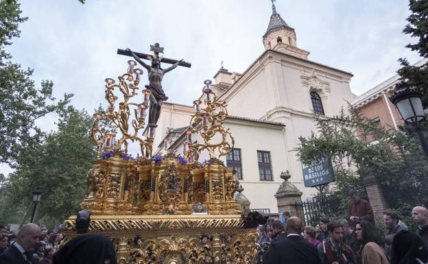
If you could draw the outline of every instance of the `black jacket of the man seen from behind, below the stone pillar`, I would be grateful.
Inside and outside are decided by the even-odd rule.
[[[300,236],[290,236],[272,243],[268,264],[320,264],[315,245]]]

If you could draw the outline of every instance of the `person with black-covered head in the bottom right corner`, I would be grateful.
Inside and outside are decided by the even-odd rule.
[[[420,264],[427,261],[427,248],[418,235],[405,230],[396,233],[392,240],[392,264]]]

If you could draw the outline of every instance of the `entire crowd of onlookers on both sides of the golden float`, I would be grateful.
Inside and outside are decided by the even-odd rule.
[[[383,212],[380,235],[370,204],[354,191],[350,198],[348,219],[303,226],[302,219],[285,212],[259,226],[258,264],[428,264],[427,208],[413,208],[415,232],[395,211]],[[117,264],[111,239],[87,234],[90,216],[78,213],[78,236],[64,245],[61,229],[41,230],[29,223],[15,233],[0,226],[0,264]]]

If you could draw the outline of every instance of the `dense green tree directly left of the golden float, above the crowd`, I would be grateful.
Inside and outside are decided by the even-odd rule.
[[[92,123],[84,110],[69,106],[61,112],[58,131],[21,152],[16,171],[0,189],[0,222],[21,221],[36,187],[43,192],[36,219],[43,217],[53,224],[54,219],[64,220],[78,211],[86,191],[86,173],[96,155],[88,136]],[[10,208],[18,211],[14,214]]]

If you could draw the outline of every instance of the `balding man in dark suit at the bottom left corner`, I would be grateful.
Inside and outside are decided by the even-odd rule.
[[[40,233],[36,224],[23,225],[16,233],[16,241],[0,255],[0,264],[32,264],[32,251]]]

